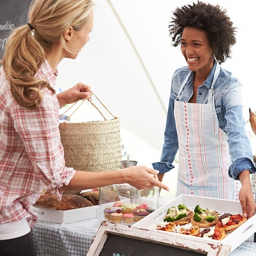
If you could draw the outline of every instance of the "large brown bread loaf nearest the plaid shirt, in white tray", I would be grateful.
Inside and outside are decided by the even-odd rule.
[[[44,194],[40,196],[38,201],[35,202],[33,206],[65,211],[93,206],[93,203],[79,195],[62,195],[61,201],[58,201],[57,196],[52,194]]]

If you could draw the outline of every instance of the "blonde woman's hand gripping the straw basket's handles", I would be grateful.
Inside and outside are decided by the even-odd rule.
[[[93,93],[90,90],[91,87],[89,85],[78,83],[64,92],[58,93],[57,98],[60,108],[66,104],[78,102],[80,99],[91,101]]]

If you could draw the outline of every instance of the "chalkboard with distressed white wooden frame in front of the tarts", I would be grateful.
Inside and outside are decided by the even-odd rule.
[[[228,256],[220,241],[102,221],[87,256]]]

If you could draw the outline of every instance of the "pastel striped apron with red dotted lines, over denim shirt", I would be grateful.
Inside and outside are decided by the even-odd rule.
[[[227,135],[218,126],[213,85],[220,72],[215,68],[208,104],[180,102],[186,84],[175,100],[175,122],[179,143],[179,169],[176,196],[196,195],[238,200],[240,182],[228,176],[231,164]]]

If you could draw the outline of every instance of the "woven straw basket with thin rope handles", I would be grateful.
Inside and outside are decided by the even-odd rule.
[[[96,108],[92,102],[91,104]],[[61,143],[67,167],[87,172],[119,169],[122,159],[119,118],[113,116],[114,119],[107,120],[103,117],[104,121],[69,123],[69,116],[65,122],[60,123]]]

